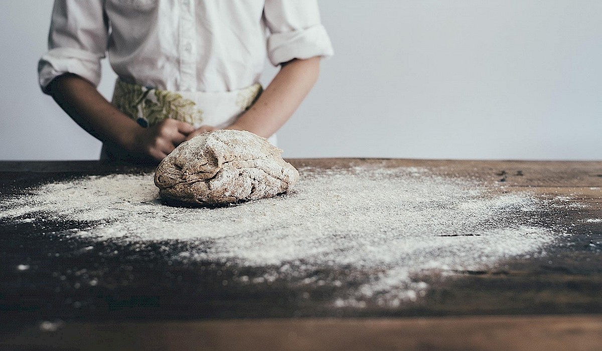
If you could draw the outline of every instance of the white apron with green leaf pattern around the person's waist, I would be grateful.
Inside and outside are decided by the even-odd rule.
[[[144,128],[172,118],[189,123],[194,128],[210,125],[222,129],[248,110],[262,91],[261,84],[256,83],[230,92],[171,92],[117,79],[112,104]],[[276,146],[276,134],[268,141]],[[132,157],[119,146],[110,143],[102,145],[101,160],[141,161]]]

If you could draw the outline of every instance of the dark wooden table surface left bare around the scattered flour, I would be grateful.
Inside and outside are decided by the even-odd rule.
[[[585,219],[602,218],[602,162],[290,162],[322,169],[426,167],[445,176],[503,182],[504,191],[529,190],[551,200],[566,196],[587,207],[558,208],[545,219],[570,234],[554,243],[547,256],[510,259],[503,269],[461,272],[453,279],[430,278],[423,299],[396,309],[328,308],[322,303],[327,291],[303,302],[297,298],[300,291],[286,285],[224,290],[215,279],[219,269],[199,275],[198,266],[168,265],[159,252],[170,243],[151,246],[152,252],[138,259],[128,256],[127,247],[119,247],[125,252],[121,258],[101,258],[96,246],[85,255],[72,255],[90,242],[40,235],[58,232],[65,223],[48,222],[42,228],[0,220],[0,349],[599,349],[602,223]],[[49,181],[150,171],[152,167],[99,161],[4,161],[0,197]],[[122,259],[128,260],[127,270]],[[14,268],[21,262],[32,267],[27,274]],[[114,284],[57,292],[61,277],[55,272],[74,267],[103,270]],[[132,272],[140,278],[118,283]],[[66,283],[72,279],[64,277]],[[93,308],[65,305],[69,299],[87,299]],[[60,321],[40,325],[55,320]]]

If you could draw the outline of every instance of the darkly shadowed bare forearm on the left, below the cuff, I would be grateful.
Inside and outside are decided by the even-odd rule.
[[[111,105],[87,80],[63,75],[51,82],[49,92],[69,116],[103,142],[128,149],[142,129],[138,123]]]

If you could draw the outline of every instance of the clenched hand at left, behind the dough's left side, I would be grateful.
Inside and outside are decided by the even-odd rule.
[[[193,132],[194,127],[186,122],[166,119],[151,128],[141,129],[126,149],[130,152],[141,152],[161,161]]]

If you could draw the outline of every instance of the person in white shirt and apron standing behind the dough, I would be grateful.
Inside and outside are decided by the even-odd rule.
[[[155,163],[216,129],[276,142],[333,54],[317,0],[55,0],[42,91],[103,143]],[[118,79],[96,90],[108,54]],[[265,90],[265,57],[280,66]]]

